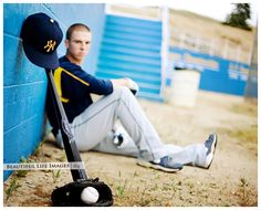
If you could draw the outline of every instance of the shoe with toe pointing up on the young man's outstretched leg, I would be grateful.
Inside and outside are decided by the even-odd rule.
[[[205,147],[207,149],[207,158],[206,158],[205,168],[207,169],[209,169],[213,160],[217,143],[218,143],[218,136],[216,134],[209,135],[208,139],[205,141]]]

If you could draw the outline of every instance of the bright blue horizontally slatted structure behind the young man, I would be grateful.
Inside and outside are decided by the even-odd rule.
[[[161,21],[107,14],[96,76],[129,77],[139,97],[163,101]]]

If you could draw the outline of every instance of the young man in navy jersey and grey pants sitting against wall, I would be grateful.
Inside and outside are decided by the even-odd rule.
[[[92,43],[91,30],[81,23],[66,32],[66,54],[54,71],[55,83],[79,150],[98,150],[137,157],[139,166],[164,171],[178,171],[184,165],[209,168],[217,144],[210,135],[203,144],[185,148],[164,145],[130,92],[135,83],[128,78],[98,80],[84,72],[81,65]],[[93,102],[90,94],[103,95]],[[61,133],[48,98],[48,115],[56,141],[62,147]],[[115,129],[121,122],[122,134]],[[115,140],[119,140],[115,144]]]

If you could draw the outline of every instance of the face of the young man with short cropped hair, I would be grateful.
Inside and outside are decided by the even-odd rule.
[[[72,62],[81,64],[88,54],[92,33],[88,31],[73,31],[71,39],[65,40],[67,56]]]

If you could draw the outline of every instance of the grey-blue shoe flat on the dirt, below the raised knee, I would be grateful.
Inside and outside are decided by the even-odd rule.
[[[146,168],[163,170],[165,172],[177,172],[184,168],[184,166],[181,164],[171,162],[171,157],[169,157],[169,156],[165,156],[165,157],[160,158],[158,162],[138,159],[137,165],[146,167]]]

